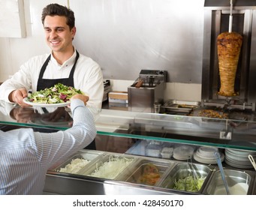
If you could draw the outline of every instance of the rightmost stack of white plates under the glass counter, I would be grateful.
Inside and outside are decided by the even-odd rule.
[[[248,154],[251,154],[254,159],[256,158],[255,151],[242,151],[234,148],[226,148],[225,163],[239,169],[251,169],[253,166],[248,159]]]

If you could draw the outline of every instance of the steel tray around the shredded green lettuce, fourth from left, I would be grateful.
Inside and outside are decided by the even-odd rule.
[[[209,179],[211,173],[212,173],[212,167],[205,166],[203,164],[197,164],[193,163],[194,169],[197,171],[197,174],[199,177],[205,177],[203,181],[202,187],[195,191],[195,192],[189,192],[189,193],[202,193],[203,188],[206,186],[207,180]],[[172,169],[170,169],[167,172],[167,175],[164,177],[164,179],[159,184],[159,187],[164,187],[168,189],[174,189],[175,187],[175,181],[177,181],[179,178],[185,178],[188,175],[193,175],[191,170],[188,169],[188,163],[177,163]],[[177,190],[177,191],[187,191],[187,190]],[[187,191],[188,192],[188,191]]]

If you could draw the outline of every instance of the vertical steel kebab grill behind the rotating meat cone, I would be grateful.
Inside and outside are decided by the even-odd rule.
[[[256,4],[254,0],[205,0],[203,31],[203,72],[201,104],[231,110],[255,111],[256,101]],[[232,16],[232,22],[230,22]],[[231,24],[231,26],[230,26]],[[234,83],[238,95],[218,95],[221,81],[218,70],[217,37],[224,31],[242,35],[242,49]]]

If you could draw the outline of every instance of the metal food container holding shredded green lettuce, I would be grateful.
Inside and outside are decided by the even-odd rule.
[[[190,163],[189,163],[190,164]],[[164,177],[163,181],[159,184],[159,187],[164,187],[168,189],[173,190],[181,190],[181,191],[188,191],[191,193],[202,193],[203,187],[206,185],[207,180],[209,179],[209,176],[212,173],[212,168],[209,166],[204,166],[202,164],[193,163],[194,170],[198,175],[198,178],[200,178],[200,188],[197,188],[197,190],[191,191],[191,186],[181,186],[180,189],[176,189],[176,182],[180,182],[182,180],[189,181],[191,177],[194,178],[193,172],[191,171],[190,167],[188,166],[188,163],[177,163],[170,171],[167,172],[167,175]],[[185,178],[188,178],[186,180]],[[193,182],[191,184],[197,184]]]

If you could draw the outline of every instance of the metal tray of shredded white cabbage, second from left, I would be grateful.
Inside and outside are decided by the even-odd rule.
[[[109,161],[110,158],[125,158],[128,161],[131,161],[127,166],[122,167],[122,169],[119,169],[118,172],[116,172],[116,175],[109,175],[106,173],[106,175],[95,175],[93,173],[97,172],[99,169],[101,169],[102,166],[105,166]],[[80,175],[87,175],[87,176],[92,176],[94,178],[104,178],[104,179],[113,179],[113,180],[119,180],[117,177],[118,175],[125,170],[129,165],[133,164],[137,160],[137,157],[134,157],[132,155],[128,154],[119,154],[119,153],[112,153],[112,152],[107,152],[103,155],[101,155],[100,158],[98,158],[97,161],[93,162],[89,167],[86,167],[84,169],[81,169],[79,174]],[[104,164],[105,163],[105,164]],[[113,171],[111,171],[113,172]]]

